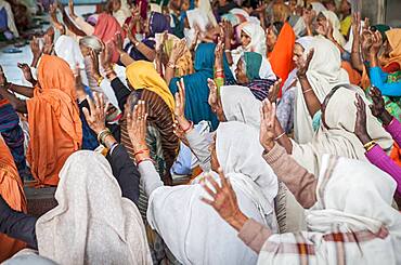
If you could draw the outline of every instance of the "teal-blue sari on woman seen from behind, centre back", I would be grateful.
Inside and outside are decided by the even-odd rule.
[[[215,48],[215,43],[200,43],[195,52],[195,72],[182,77],[185,83],[185,117],[194,123],[198,123],[202,120],[210,121],[212,130],[217,129],[219,121],[207,102],[209,97],[207,79],[214,79]],[[227,82],[233,82],[234,77],[225,55],[223,57],[223,66]],[[179,79],[173,78],[170,81],[169,88],[172,94],[178,92],[177,81]]]

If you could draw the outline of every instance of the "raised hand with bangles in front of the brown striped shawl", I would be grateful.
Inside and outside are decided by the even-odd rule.
[[[130,103],[126,106],[127,130],[134,151],[147,149],[146,146],[146,106],[144,101],[139,101],[133,107]]]

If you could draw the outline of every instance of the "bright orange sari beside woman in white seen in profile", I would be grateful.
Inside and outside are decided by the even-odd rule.
[[[269,62],[276,76],[283,81],[281,88],[287,80],[288,74],[294,69],[293,51],[295,45],[295,34],[293,27],[285,23],[277,38],[273,51],[269,54]],[[279,96],[282,95],[280,88]]]

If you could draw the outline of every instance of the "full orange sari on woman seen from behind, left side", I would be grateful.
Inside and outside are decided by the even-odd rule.
[[[69,65],[43,55],[38,83],[28,100],[30,142],[27,160],[38,185],[59,184],[65,160],[82,144],[82,124],[76,102],[75,78]]]

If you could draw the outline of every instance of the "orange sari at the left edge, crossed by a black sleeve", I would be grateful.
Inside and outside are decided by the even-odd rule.
[[[18,171],[16,170],[14,159],[0,136],[0,194],[7,203],[16,211],[26,213],[27,204]],[[20,250],[24,249],[26,243],[0,234],[0,263],[10,259]]]

